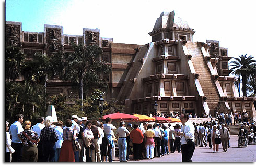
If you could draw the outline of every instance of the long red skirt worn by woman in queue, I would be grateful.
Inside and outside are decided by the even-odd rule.
[[[64,140],[62,143],[59,162],[75,162],[72,141]]]

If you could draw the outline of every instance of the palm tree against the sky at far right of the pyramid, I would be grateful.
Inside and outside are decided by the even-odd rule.
[[[247,82],[252,69],[250,68],[256,60],[253,59],[253,56],[247,57],[247,54],[241,55],[238,58],[234,58],[235,61],[230,62],[232,67],[230,70],[234,70],[232,73],[237,76],[242,76],[242,93],[243,96],[247,96]]]

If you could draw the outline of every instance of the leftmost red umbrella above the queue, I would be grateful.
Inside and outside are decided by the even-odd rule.
[[[102,120],[106,120],[106,118],[109,117],[112,119],[112,121],[125,121],[125,122],[132,122],[132,121],[138,121],[138,117],[135,117],[130,114],[125,113],[112,113],[109,115],[104,115]]]

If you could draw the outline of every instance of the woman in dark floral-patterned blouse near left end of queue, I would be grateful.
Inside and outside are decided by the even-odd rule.
[[[30,130],[31,122],[24,122],[25,131],[20,133],[23,144],[22,162],[37,162],[39,136],[36,131]]]

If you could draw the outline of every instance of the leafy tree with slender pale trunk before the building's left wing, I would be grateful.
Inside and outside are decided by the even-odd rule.
[[[91,87],[107,87],[107,81],[104,81],[102,74],[109,74],[111,67],[99,60],[102,49],[98,45],[73,44],[74,52],[65,54],[66,69],[64,80],[79,83],[79,98],[81,111],[83,112],[83,83],[86,90]],[[85,81],[85,82],[83,82]]]

